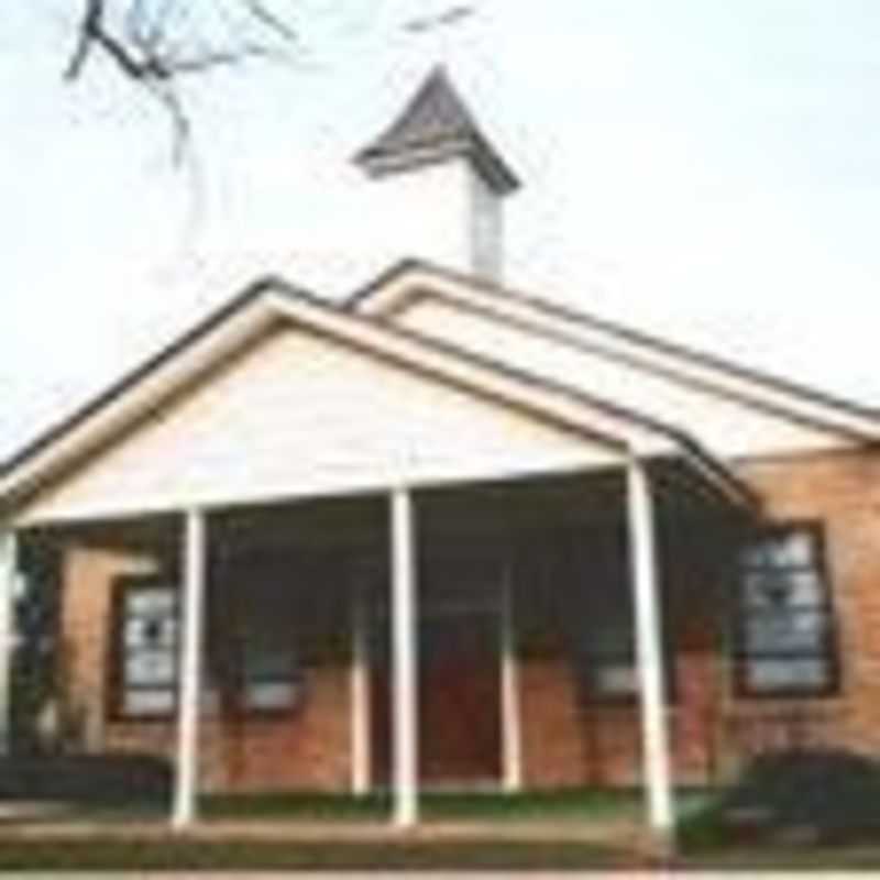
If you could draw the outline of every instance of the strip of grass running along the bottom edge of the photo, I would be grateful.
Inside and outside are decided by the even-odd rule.
[[[179,837],[138,840],[4,840],[0,871],[79,870],[602,870],[682,869],[707,871],[877,870],[880,844],[861,847],[732,847],[679,854],[662,862],[594,844],[553,842],[254,842]]]

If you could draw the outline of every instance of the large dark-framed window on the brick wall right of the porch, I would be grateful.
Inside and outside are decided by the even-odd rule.
[[[834,620],[814,526],[773,529],[740,557],[737,684],[750,696],[820,695],[837,685]]]

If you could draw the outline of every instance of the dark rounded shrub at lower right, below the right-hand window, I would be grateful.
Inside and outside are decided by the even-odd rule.
[[[694,846],[876,843],[878,804],[880,762],[844,750],[778,751],[752,759],[682,832]]]

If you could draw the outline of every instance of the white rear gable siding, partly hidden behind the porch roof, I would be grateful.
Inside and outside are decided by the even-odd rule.
[[[671,376],[662,365],[608,355],[607,350],[564,344],[552,333],[488,317],[432,295],[430,287],[395,311],[392,320],[424,336],[468,351],[503,359],[543,378],[686,430],[722,457],[800,452],[840,446],[842,436],[809,417],[749,402],[735,392],[686,375]]]

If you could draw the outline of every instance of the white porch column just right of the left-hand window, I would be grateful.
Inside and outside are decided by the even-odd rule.
[[[196,818],[206,561],[205,514],[196,509],[187,510],[183,548],[184,583],[177,708],[177,774],[172,817],[175,828],[185,828]]]

